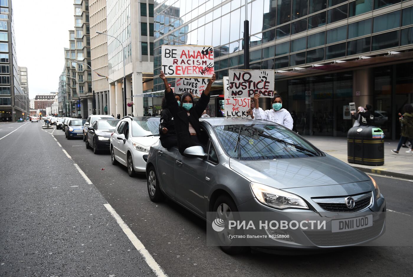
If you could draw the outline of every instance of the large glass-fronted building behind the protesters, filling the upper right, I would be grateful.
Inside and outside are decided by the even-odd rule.
[[[252,0],[247,12],[249,68],[275,70],[300,134],[346,136],[355,102],[373,105],[387,138],[399,136],[398,113],[413,103],[412,0]],[[154,75],[164,44],[214,46],[218,83],[229,69],[244,69],[244,19],[241,0],[160,2]],[[161,90],[156,77],[154,91]]]

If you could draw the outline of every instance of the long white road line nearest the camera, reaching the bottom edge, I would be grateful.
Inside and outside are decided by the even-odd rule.
[[[123,222],[122,218],[119,216],[118,213],[116,213],[116,211],[112,208],[112,206],[109,203],[107,203],[107,204],[104,204],[104,207],[106,207],[109,213],[111,213],[112,216],[116,219],[116,222],[119,224],[123,232],[126,234],[128,239],[132,242],[133,246],[135,246],[136,250],[138,250],[139,253],[143,256],[146,263],[150,266],[150,268],[152,268],[155,274],[159,277],[167,277],[168,275],[166,275],[164,270],[162,270],[162,268],[155,261],[152,255],[146,250],[142,242],[140,242],[140,240],[135,236],[132,230],[129,229],[128,225],[126,225],[126,223]]]

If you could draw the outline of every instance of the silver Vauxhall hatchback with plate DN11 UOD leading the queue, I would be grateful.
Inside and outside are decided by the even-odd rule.
[[[212,223],[217,245],[228,254],[248,247],[271,252],[354,246],[385,232],[385,199],[374,179],[293,131],[247,118],[206,118],[201,127],[203,146],[187,148],[184,155],[160,143],[150,148],[148,194],[154,202],[168,197]],[[246,230],[231,229],[230,223],[247,217],[325,225],[264,228],[254,234],[265,239],[245,239]],[[237,235],[244,236],[242,244]]]

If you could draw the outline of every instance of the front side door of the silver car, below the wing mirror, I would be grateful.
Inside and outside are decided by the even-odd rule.
[[[205,216],[205,177],[208,166],[207,159],[189,158],[179,152],[175,158],[175,198],[201,216]]]

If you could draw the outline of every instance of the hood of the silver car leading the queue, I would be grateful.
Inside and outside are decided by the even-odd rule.
[[[230,158],[230,168],[250,181],[280,189],[370,180],[363,172],[330,155],[256,161]]]

